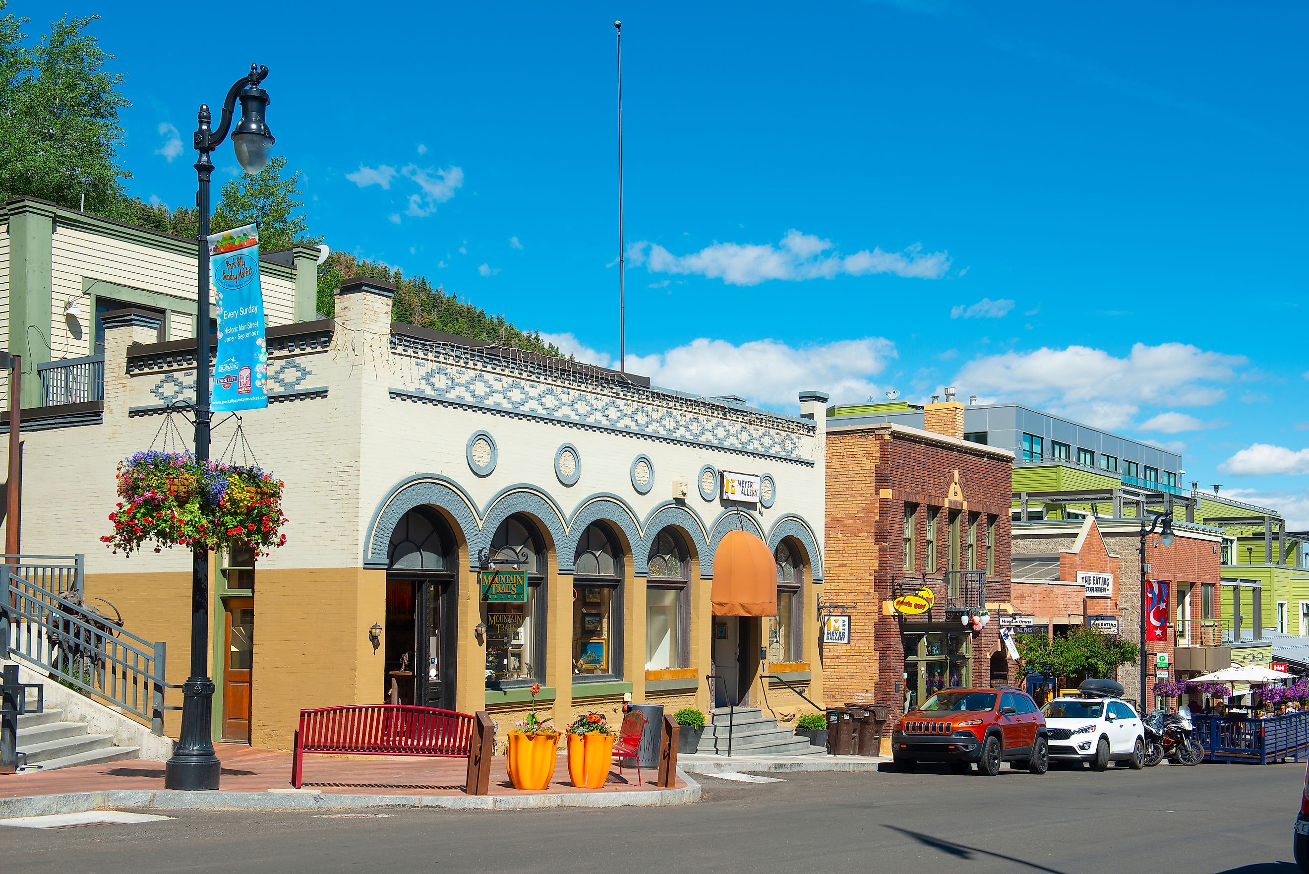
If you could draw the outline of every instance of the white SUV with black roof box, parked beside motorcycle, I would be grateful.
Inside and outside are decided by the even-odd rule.
[[[1144,727],[1126,701],[1081,694],[1047,701],[1041,712],[1050,730],[1051,761],[1085,761],[1092,770],[1103,770],[1110,761],[1144,767]]]

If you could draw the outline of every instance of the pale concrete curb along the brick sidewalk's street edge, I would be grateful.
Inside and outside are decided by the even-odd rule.
[[[132,807],[148,810],[343,810],[351,807],[431,807],[441,810],[543,810],[547,807],[670,807],[700,799],[700,784],[682,769],[681,789],[623,793],[548,793],[539,795],[338,795],[262,791],[173,791],[115,789],[0,798],[0,819],[80,814]]]

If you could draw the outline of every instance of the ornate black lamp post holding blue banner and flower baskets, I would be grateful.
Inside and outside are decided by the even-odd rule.
[[[241,121],[232,131],[232,147],[246,173],[258,173],[268,162],[272,134],[264,123],[268,92],[259,83],[267,67],[250,64],[250,72],[228,90],[217,130],[209,130],[209,106],[200,105],[199,128],[195,131],[195,161],[199,190],[195,206],[200,229],[196,237],[199,271],[196,274],[195,314],[195,456],[209,460],[209,176],[213,162],[209,152],[228,136],[232,110],[241,98]],[[213,715],[213,680],[208,676],[206,650],[209,643],[209,550],[195,546],[191,552],[191,676],[182,687],[182,735],[173,748],[173,757],[164,770],[165,789],[217,789],[219,757],[213,753],[211,721]]]

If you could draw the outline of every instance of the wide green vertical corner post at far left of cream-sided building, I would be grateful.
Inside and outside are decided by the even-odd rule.
[[[54,308],[54,210],[16,203],[9,208],[10,352],[22,355],[22,406],[41,406],[37,364],[50,360],[50,312]],[[33,330],[35,329],[35,330]]]

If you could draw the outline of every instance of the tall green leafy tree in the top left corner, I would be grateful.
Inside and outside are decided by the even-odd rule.
[[[0,12],[8,0],[0,0]],[[27,18],[0,17],[0,199],[35,197],[99,215],[117,215],[123,180],[118,113],[123,73],[85,33],[98,16],[60,18],[29,45]]]

